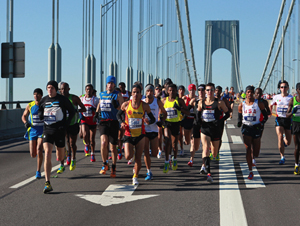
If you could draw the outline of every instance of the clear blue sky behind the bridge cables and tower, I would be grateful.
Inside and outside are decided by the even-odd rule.
[[[100,2],[102,1],[95,1],[95,57],[98,63]],[[139,1],[134,0],[133,2]],[[179,2],[184,6],[182,0],[179,0]],[[195,63],[199,74],[199,82],[203,80],[204,74],[205,21],[239,20],[240,70],[243,86],[258,83],[267,59],[281,2],[281,0],[189,0]],[[287,1],[286,8],[289,7],[290,2]],[[175,4],[175,1],[170,0],[170,3]],[[123,7],[126,6],[127,0],[123,0]],[[296,11],[297,7],[298,5],[295,7]],[[14,79],[14,100],[31,100],[32,91],[36,87],[41,87],[46,93],[48,48],[52,38],[52,0],[14,0],[14,9],[14,41],[24,41],[26,44],[26,75],[25,78]],[[137,10],[138,8],[135,7],[135,24],[138,20]],[[127,7],[125,11],[127,11]],[[182,9],[181,13],[184,14],[185,11]],[[153,16],[156,16],[155,12]],[[127,20],[127,15],[124,20]],[[186,27],[185,17],[183,17],[182,24]],[[162,29],[167,28],[164,26]],[[134,49],[136,49],[135,34],[137,31],[138,26],[135,26]],[[82,84],[82,0],[60,1],[59,32],[59,43],[62,48],[62,80],[70,84],[72,93],[80,94]],[[6,0],[2,0],[0,1],[0,42],[5,41]],[[185,33],[185,41],[186,47],[189,49],[187,33]],[[125,53],[126,48],[123,50],[123,54]],[[123,62],[123,67],[126,66],[125,64]],[[229,51],[225,49],[217,50],[213,54],[212,65],[213,82],[223,87],[230,86],[231,54]],[[136,50],[133,51],[133,67],[136,68]],[[97,65],[98,77],[99,66]],[[1,79],[0,101],[5,100],[5,84],[5,79]],[[96,88],[99,89],[97,86]]]

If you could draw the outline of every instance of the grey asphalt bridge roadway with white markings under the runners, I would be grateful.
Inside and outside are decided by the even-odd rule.
[[[129,185],[132,166],[124,158],[118,162],[115,179],[99,175],[97,134],[96,162],[84,157],[79,140],[77,168],[72,172],[66,168],[56,178],[53,172],[54,191],[43,194],[44,178],[26,181],[36,170],[27,142],[1,142],[0,225],[299,225],[300,176],[293,174],[294,144],[286,148],[286,164],[278,165],[272,116],[265,126],[254,180],[249,183],[243,176],[245,148],[236,118],[235,107],[223,136],[221,159],[212,163],[212,184],[199,174],[200,151],[194,166],[187,165],[188,146],[178,158],[177,171],[164,174],[163,159],[152,158],[154,179],[145,181],[143,164],[136,188]],[[52,161],[58,165],[55,154]]]

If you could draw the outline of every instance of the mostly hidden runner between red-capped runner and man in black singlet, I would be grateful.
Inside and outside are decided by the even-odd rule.
[[[193,101],[190,102],[191,106],[194,106],[194,114],[197,115],[197,109],[198,109],[198,104],[199,102],[201,103],[202,100],[205,99],[205,85],[201,84],[198,86],[198,99],[194,99]],[[191,158],[190,161],[188,162],[188,165],[190,167],[193,166],[194,164],[194,157],[196,151],[198,151],[200,147],[200,124],[197,123],[197,120],[194,120],[193,124],[193,137],[191,140],[191,147],[190,147],[190,153],[191,153]]]

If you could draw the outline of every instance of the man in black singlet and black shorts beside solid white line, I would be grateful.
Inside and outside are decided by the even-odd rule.
[[[217,157],[220,140],[221,140],[221,128],[220,122],[225,121],[229,117],[228,108],[223,100],[218,100],[214,97],[215,85],[208,83],[205,86],[206,98],[198,104],[198,121],[201,120],[201,142],[202,142],[202,160],[203,164],[200,173],[207,172],[207,181],[213,182],[213,178],[210,173],[210,147],[213,153],[213,157]],[[219,120],[221,110],[225,113],[225,116]],[[199,123],[199,122],[198,122]],[[207,171],[206,171],[207,170]]]

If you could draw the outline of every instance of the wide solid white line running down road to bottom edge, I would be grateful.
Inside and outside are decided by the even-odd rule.
[[[219,177],[220,225],[248,225],[226,129],[223,133],[220,149]]]

